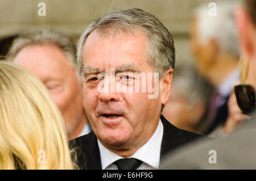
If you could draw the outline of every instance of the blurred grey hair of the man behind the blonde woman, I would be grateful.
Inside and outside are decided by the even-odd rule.
[[[9,60],[13,61],[16,54],[26,47],[27,45],[37,45],[37,44],[54,44],[59,47],[68,61],[71,62],[75,68],[76,64],[76,46],[73,41],[66,35],[53,30],[36,30],[33,32],[24,33],[19,35],[14,39],[13,44],[9,50]]]

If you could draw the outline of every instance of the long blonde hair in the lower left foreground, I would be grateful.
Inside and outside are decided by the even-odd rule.
[[[46,87],[18,65],[0,62],[0,169],[75,168]]]

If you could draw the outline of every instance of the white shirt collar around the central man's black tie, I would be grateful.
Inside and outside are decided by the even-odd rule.
[[[158,169],[160,161],[160,148],[163,138],[163,123],[159,119],[158,127],[150,140],[139,148],[130,158],[137,158],[143,162],[141,169]],[[113,153],[101,144],[98,140],[98,147],[100,149],[102,170],[110,169],[113,162],[123,157]],[[138,169],[140,169],[140,167]]]

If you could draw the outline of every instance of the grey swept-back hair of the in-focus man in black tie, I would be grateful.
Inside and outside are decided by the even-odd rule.
[[[171,33],[152,14],[141,9],[114,10],[94,20],[82,33],[77,45],[77,65],[82,73],[82,52],[87,37],[94,30],[98,32],[136,32],[142,31],[150,43],[147,50],[148,63],[159,73],[161,78],[164,72],[175,65],[175,48]]]

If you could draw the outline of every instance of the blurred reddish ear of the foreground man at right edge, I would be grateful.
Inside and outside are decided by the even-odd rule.
[[[236,16],[236,27],[238,31],[238,37],[240,40],[240,48],[242,53],[247,54],[249,57],[253,53],[253,40],[251,39],[251,30],[253,23],[249,14],[243,7],[236,7],[234,14]]]

